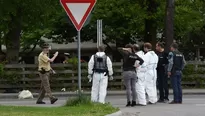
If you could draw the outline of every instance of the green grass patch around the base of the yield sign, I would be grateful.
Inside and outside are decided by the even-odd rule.
[[[0,106],[0,116],[105,116],[118,110],[110,104],[92,103],[83,96],[68,100],[62,107]]]

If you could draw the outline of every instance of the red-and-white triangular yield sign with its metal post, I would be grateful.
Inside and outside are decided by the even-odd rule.
[[[80,30],[97,0],[60,0],[60,3],[78,31],[78,91],[81,93],[81,40]]]

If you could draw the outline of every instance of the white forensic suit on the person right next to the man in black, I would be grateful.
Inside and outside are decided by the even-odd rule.
[[[144,55],[144,62],[146,63],[146,72],[145,72],[145,90],[149,97],[149,102],[157,102],[157,64],[158,56],[154,51],[149,51]]]

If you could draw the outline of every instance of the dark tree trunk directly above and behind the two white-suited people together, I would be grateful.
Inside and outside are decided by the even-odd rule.
[[[157,12],[158,2],[156,0],[147,0],[147,13],[151,16]],[[152,45],[157,41],[157,21],[153,18],[145,19],[145,36],[144,41],[150,42]]]

